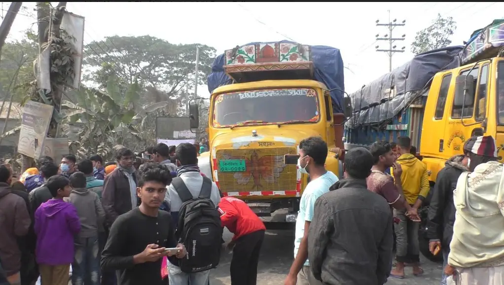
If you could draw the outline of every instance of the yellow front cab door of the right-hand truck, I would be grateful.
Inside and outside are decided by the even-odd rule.
[[[461,70],[459,75],[467,75],[470,67]],[[474,67],[470,75],[474,77],[474,104],[454,106],[453,96],[450,102],[451,116],[447,121],[445,128],[445,155],[447,158],[454,155],[463,154],[464,142],[473,135],[474,129],[479,129],[480,124],[467,126],[468,124],[482,121],[486,115],[486,97],[488,82],[488,63],[483,63]],[[454,86],[455,87],[455,86]],[[454,88],[455,90],[455,88]],[[454,92],[455,93],[455,92]],[[462,114],[462,110],[463,114]]]

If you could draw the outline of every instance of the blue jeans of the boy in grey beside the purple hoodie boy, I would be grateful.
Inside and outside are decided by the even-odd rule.
[[[98,236],[75,239],[75,255],[72,269],[73,285],[100,284],[100,247]]]

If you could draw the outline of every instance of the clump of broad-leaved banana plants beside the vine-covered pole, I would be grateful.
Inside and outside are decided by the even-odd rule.
[[[81,87],[73,92],[76,103],[63,102],[64,131],[75,153],[96,153],[108,158],[115,145],[136,149],[144,142],[140,135],[143,119],[136,114],[144,114],[145,118],[147,111],[138,104],[138,83],[130,84],[121,94],[115,78],[110,77],[106,90]]]

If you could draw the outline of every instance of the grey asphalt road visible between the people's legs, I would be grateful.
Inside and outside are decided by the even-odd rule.
[[[224,232],[224,240],[230,241],[232,234]],[[258,284],[280,285],[289,272],[293,259],[294,231],[267,231],[261,261],[258,268]],[[229,265],[231,254],[223,251],[219,266],[210,273],[211,285],[231,285],[229,277]],[[421,266],[424,269],[423,276],[413,276],[411,267],[406,268],[406,278],[389,278],[387,285],[437,285],[442,272],[442,265],[428,261],[421,256]]]

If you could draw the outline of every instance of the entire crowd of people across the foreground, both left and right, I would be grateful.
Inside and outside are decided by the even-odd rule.
[[[418,210],[430,186],[411,147],[403,136],[352,149],[339,179],[325,168],[321,137],[300,142],[297,167],[309,183],[286,285],[381,285],[406,278],[406,266],[413,276],[424,273]],[[473,136],[463,150],[437,175],[429,249],[443,255],[441,284],[502,284],[504,169],[491,136]],[[19,181],[0,166],[0,284],[33,285],[39,277],[42,285],[68,284],[72,269],[73,285],[208,285],[226,227],[234,234],[226,245],[231,283],[255,285],[266,228],[200,172],[200,151],[119,148],[116,162],[105,164],[97,155],[45,157]]]

